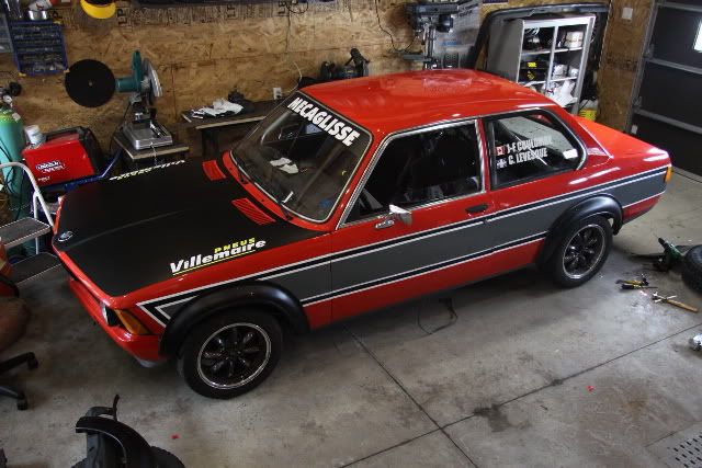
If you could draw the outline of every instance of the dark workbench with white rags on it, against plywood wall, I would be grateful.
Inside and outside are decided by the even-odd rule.
[[[200,132],[203,157],[217,157],[219,155],[219,130],[237,125],[256,124],[262,121],[269,112],[275,109],[281,101],[257,101],[253,111],[225,117],[193,117],[190,112],[183,112],[185,121],[180,124],[183,129],[194,128]],[[211,149],[211,151],[208,151]]]

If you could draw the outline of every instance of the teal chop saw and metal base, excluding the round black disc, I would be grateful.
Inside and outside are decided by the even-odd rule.
[[[132,55],[132,76],[117,78],[117,92],[129,95],[131,112],[122,125],[122,132],[135,149],[154,148],[173,144],[173,136],[156,121],[156,98],[163,95],[161,83],[151,62],[135,50]]]

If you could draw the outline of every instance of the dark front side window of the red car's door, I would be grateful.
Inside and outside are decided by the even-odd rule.
[[[480,191],[475,124],[393,139],[381,155],[348,220]]]

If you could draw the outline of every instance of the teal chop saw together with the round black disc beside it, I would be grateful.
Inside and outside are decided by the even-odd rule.
[[[115,90],[129,94],[129,109],[121,125],[124,137],[134,149],[157,148],[173,144],[173,136],[156,121],[156,98],[163,95],[158,75],[148,59],[135,50],[132,75],[114,78],[112,70],[98,60],[80,60],[66,75],[66,91],[78,104],[98,107],[105,104]]]

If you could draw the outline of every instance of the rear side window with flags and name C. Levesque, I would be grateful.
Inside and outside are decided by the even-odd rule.
[[[563,124],[548,114],[495,117],[485,124],[495,189],[573,170],[582,157]]]

